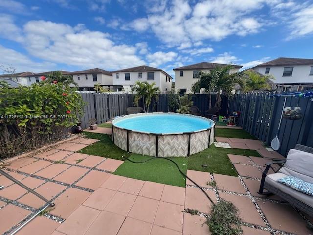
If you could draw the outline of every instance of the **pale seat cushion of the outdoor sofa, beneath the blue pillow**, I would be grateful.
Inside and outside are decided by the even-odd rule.
[[[286,185],[278,182],[279,179],[287,177],[287,176],[288,175],[285,175],[283,173],[269,174],[265,177],[265,181],[267,184],[270,184],[272,187],[277,188],[286,194],[289,194],[290,196],[296,198],[297,200],[299,200],[299,201],[301,201],[301,202],[303,202],[303,203],[305,203],[308,206],[313,208],[313,197],[312,196],[309,196],[309,195],[302,193],[302,192],[298,192],[297,190],[294,190],[294,189],[287,187]]]

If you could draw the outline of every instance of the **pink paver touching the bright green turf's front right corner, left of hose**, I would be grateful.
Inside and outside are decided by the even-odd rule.
[[[165,185],[161,197],[161,201],[185,205],[185,191],[183,187]]]

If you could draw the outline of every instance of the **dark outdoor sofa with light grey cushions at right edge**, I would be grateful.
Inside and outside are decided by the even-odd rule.
[[[267,175],[272,164],[284,165],[276,173]],[[300,211],[313,216],[313,196],[278,182],[286,176],[294,176],[313,184],[313,148],[297,144],[295,149],[288,152],[286,160],[266,163],[258,192],[259,194],[276,194]],[[263,192],[264,189],[268,192]]]

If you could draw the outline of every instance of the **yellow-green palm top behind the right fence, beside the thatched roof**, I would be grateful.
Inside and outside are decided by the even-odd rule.
[[[245,71],[244,91],[250,92],[254,90],[270,90],[269,79],[274,79],[272,75],[262,75],[255,71]]]

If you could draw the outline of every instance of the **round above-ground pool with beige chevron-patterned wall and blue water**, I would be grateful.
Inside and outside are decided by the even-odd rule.
[[[131,114],[112,121],[112,140],[132,153],[186,157],[213,143],[214,125],[208,118],[189,114]]]

